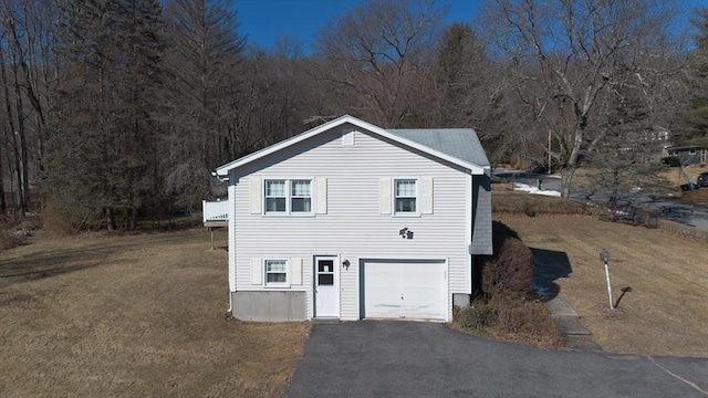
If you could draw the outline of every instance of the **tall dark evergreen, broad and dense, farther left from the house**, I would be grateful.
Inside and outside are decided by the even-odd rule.
[[[69,0],[60,30],[60,112],[48,180],[60,210],[135,228],[155,146],[162,24],[155,0]],[[79,150],[80,149],[80,150]]]

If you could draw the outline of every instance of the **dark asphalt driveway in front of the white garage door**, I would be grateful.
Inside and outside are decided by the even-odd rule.
[[[693,385],[691,385],[693,384]],[[444,324],[319,324],[285,397],[708,397],[708,359],[553,352]]]

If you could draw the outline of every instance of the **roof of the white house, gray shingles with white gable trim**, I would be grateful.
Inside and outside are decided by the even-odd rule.
[[[217,168],[217,175],[227,176],[229,170],[266,157],[278,150],[301,143],[336,126],[352,124],[375,135],[399,143],[404,146],[424,151],[434,157],[447,160],[470,170],[472,175],[489,174],[489,160],[472,129],[394,129],[386,130],[356,117],[344,115],[336,119],[309,129],[294,137],[254,151]],[[457,132],[457,133],[454,133]],[[465,133],[462,133],[465,132]],[[428,137],[428,135],[430,135]],[[461,143],[466,140],[466,143]],[[459,145],[459,147],[458,147]],[[465,149],[467,148],[467,149]],[[481,156],[480,156],[481,154]],[[477,163],[479,161],[479,163]]]

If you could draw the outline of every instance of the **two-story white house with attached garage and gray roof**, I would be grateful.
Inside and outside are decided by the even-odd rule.
[[[472,129],[342,116],[217,169],[229,181],[239,320],[449,321],[491,254],[487,156]]]

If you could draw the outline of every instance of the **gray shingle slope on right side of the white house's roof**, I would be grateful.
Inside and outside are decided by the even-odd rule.
[[[489,159],[487,159],[477,133],[471,128],[396,128],[386,132],[460,160],[480,167],[489,166]]]

